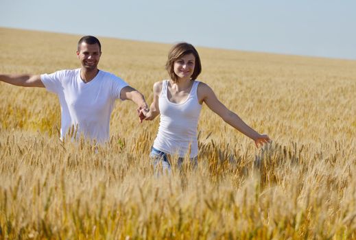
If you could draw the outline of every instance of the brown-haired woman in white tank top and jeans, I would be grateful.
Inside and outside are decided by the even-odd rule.
[[[189,43],[178,43],[169,51],[165,66],[169,80],[156,82],[153,86],[154,99],[150,109],[141,110],[145,120],[153,120],[161,114],[158,134],[154,140],[151,158],[155,164],[162,160],[163,170],[170,170],[168,156],[178,156],[178,166],[185,156],[197,163],[197,127],[202,104],[222,117],[239,132],[250,137],[258,147],[268,143],[267,135],[250,128],[239,116],[222,104],[213,90],[196,78],[202,71],[198,51]],[[190,151],[190,152],[189,152]]]

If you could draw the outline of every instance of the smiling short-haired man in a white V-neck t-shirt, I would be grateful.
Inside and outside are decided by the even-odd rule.
[[[84,136],[91,141],[105,143],[109,140],[110,115],[115,99],[134,101],[139,112],[146,110],[147,104],[143,95],[121,78],[97,68],[101,49],[97,38],[84,36],[78,42],[80,69],[42,75],[0,75],[0,81],[16,86],[47,88],[47,91],[56,93],[62,112],[61,139],[73,130],[76,133],[72,136],[74,138]],[[139,118],[142,122],[143,113]]]

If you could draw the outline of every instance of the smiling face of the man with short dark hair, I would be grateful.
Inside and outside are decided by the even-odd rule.
[[[83,42],[79,46],[77,55],[80,62],[82,62],[82,67],[87,70],[96,70],[102,52],[97,43],[87,44]]]

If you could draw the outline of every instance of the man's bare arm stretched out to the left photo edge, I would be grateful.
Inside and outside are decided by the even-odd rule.
[[[43,82],[40,80],[40,75],[29,74],[0,74],[0,81],[16,86],[29,86],[44,88]]]

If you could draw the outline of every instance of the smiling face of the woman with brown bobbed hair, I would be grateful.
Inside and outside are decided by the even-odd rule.
[[[174,61],[174,73],[180,80],[190,80],[195,68],[195,56],[193,53],[183,55]]]

